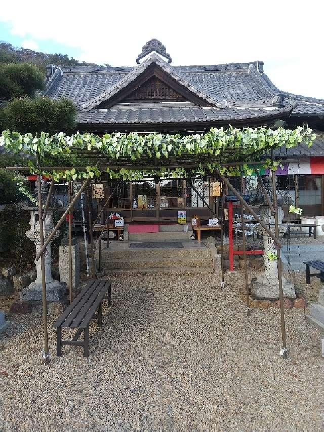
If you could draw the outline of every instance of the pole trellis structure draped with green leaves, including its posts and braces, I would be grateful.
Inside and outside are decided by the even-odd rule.
[[[160,134],[129,134],[129,135],[103,135],[95,136],[92,134],[76,134],[67,137],[59,134],[50,137],[42,133],[39,137],[31,134],[24,136],[18,133],[4,131],[0,138],[0,145],[5,145],[8,150],[14,152],[28,153],[31,158],[27,166],[7,167],[8,170],[29,171],[38,175],[38,213],[41,229],[41,249],[36,260],[42,260],[42,281],[43,281],[43,325],[44,325],[44,351],[45,363],[49,362],[49,343],[47,331],[47,302],[46,302],[46,282],[44,252],[48,244],[52,241],[56,231],[60,228],[69,215],[69,279],[70,279],[70,301],[72,301],[72,254],[71,254],[71,212],[74,203],[80,195],[89,190],[94,177],[100,177],[106,173],[110,178],[141,179],[143,177],[170,176],[171,178],[188,178],[192,176],[215,177],[226,185],[236,196],[241,204],[241,214],[244,209],[253,215],[254,219],[260,223],[262,228],[268,233],[277,247],[277,268],[279,280],[279,300],[281,313],[281,354],[286,357],[286,329],[284,318],[284,294],[282,291],[282,263],[280,259],[280,240],[278,230],[278,209],[276,204],[275,169],[279,162],[271,157],[267,161],[262,161],[262,155],[269,150],[279,146],[292,147],[301,141],[311,145],[315,139],[310,129],[297,128],[296,130],[285,130],[278,128],[271,130],[266,128],[243,130],[229,128],[211,129],[205,135],[172,136]],[[271,151],[271,154],[273,152]],[[275,218],[275,232],[259,218],[254,210],[242,197],[242,190],[237,191],[226,178],[226,175],[241,175],[245,172],[249,174],[248,165],[261,165],[272,169],[272,194],[271,203],[268,193],[258,176],[259,184],[263,190],[269,208]],[[41,178],[43,174],[52,177],[48,197],[43,209]],[[43,221],[47,213],[51,194],[55,180],[66,178],[69,185],[69,204],[64,214],[54,227],[52,233],[46,241],[43,237]],[[72,181],[81,181],[82,185],[75,197],[72,199]],[[242,185],[242,181],[241,181]],[[109,199],[106,201],[107,205]],[[223,249],[224,232],[224,187],[222,188],[222,218],[221,218],[221,247]],[[247,256],[244,235],[244,218],[242,217],[243,231],[243,253],[245,261],[245,285],[246,302],[249,315],[249,286],[247,275]],[[91,235],[91,249],[93,277],[94,268],[94,244],[92,236],[91,212],[89,212],[89,225]],[[222,266],[222,286],[224,285],[224,269]]]

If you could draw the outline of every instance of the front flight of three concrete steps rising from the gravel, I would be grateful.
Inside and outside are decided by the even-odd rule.
[[[111,273],[212,273],[216,249],[143,248],[110,250],[101,254],[102,271]]]

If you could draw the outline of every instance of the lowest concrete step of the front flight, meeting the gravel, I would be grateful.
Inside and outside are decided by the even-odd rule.
[[[104,269],[105,276],[111,274],[210,274],[214,273],[212,267],[148,267],[148,268],[132,268],[132,269]]]

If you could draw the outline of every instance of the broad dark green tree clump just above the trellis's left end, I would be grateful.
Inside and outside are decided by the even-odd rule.
[[[0,111],[0,129],[50,135],[74,128],[76,111],[68,99],[14,98]]]

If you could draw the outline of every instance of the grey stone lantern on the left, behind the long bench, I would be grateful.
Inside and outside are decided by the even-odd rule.
[[[45,200],[43,200],[45,202]],[[30,229],[26,231],[26,236],[30,239],[36,248],[36,254],[41,250],[41,241],[40,241],[40,228],[39,228],[39,216],[38,216],[38,208],[37,207],[29,207],[30,210]],[[48,239],[50,233],[53,230],[53,209],[49,208],[45,217],[45,221],[43,223],[43,231],[44,231],[44,242]],[[59,235],[59,231],[56,232],[53,240],[57,238]],[[55,281],[52,277],[52,269],[51,269],[51,243],[49,243],[46,251],[44,253],[45,256],[45,281],[46,281],[46,298],[47,301],[60,301],[66,291],[66,284]],[[42,263],[41,258],[38,261],[35,260],[37,278],[34,282],[28,285],[25,289],[23,289],[20,293],[20,300],[42,300]]]

